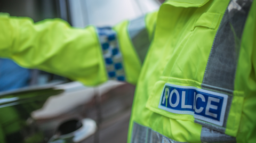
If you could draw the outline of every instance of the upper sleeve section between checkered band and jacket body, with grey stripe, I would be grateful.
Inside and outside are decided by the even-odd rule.
[[[123,21],[113,28],[117,32],[123,54],[125,78],[130,83],[137,83],[141,66],[154,37],[156,18],[157,12],[153,12],[135,20]]]

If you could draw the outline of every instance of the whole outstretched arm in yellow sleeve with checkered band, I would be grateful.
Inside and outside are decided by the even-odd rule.
[[[135,84],[153,37],[155,19],[156,13],[152,13],[114,28],[80,29],[61,19],[34,23],[30,18],[2,13],[0,56],[85,85],[108,79]]]

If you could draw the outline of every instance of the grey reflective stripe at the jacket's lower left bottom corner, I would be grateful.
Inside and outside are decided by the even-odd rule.
[[[133,123],[131,143],[182,143],[163,136],[162,134],[140,125]]]

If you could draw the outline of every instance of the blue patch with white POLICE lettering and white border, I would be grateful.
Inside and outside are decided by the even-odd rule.
[[[228,95],[218,92],[165,83],[158,108],[222,126],[227,98]]]

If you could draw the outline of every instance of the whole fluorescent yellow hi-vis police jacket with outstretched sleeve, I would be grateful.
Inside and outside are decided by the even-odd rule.
[[[0,56],[137,84],[127,142],[256,142],[256,2],[169,0],[114,28],[2,14]]]

